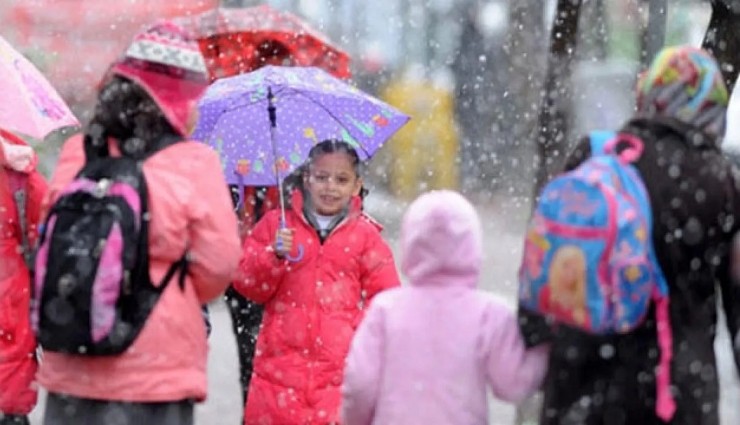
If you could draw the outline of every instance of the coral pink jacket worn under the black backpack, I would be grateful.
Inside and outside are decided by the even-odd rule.
[[[82,137],[63,147],[47,206],[84,163]],[[154,282],[187,249],[185,291],[169,285],[139,337],[119,356],[45,352],[38,380],[49,391],[102,400],[162,402],[206,396],[206,330],[200,306],[229,284],[241,256],[236,216],[218,157],[183,142],[144,163]]]

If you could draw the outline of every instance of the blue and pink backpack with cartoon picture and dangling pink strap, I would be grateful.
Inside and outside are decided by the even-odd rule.
[[[629,333],[656,306],[659,416],[672,416],[668,285],[652,244],[652,211],[637,169],[643,145],[590,134],[592,156],[543,188],[519,270],[520,308],[584,334]],[[617,153],[617,145],[625,148]],[[672,407],[673,406],[673,407]]]

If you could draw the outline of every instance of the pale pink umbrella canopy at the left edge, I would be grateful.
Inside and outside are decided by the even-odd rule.
[[[80,125],[46,78],[0,37],[0,127],[43,139],[54,130]]]

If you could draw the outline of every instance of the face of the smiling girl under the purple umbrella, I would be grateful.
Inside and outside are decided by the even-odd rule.
[[[316,212],[339,214],[350,199],[360,193],[362,179],[355,173],[352,160],[344,152],[319,155],[304,176]]]

